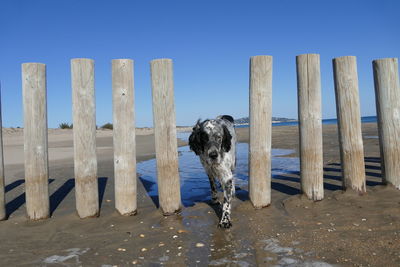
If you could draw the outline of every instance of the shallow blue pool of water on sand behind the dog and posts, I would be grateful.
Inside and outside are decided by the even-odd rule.
[[[178,138],[187,140],[189,133],[179,133]],[[292,173],[300,170],[298,158],[281,157],[293,152],[290,149],[272,149],[272,178],[283,173]],[[181,198],[184,206],[192,206],[195,202],[204,202],[211,199],[210,183],[199,157],[190,151],[188,146],[178,149],[179,174],[181,182]],[[248,183],[248,144],[236,145],[236,194],[241,193],[242,187]],[[158,196],[156,159],[137,164],[140,179],[150,197]]]

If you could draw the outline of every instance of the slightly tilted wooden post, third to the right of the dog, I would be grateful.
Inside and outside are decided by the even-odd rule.
[[[366,192],[356,57],[333,59],[343,187]]]

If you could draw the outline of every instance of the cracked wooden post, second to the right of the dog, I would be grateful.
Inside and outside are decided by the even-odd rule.
[[[296,63],[301,190],[309,199],[321,200],[324,187],[319,55],[299,55]]]

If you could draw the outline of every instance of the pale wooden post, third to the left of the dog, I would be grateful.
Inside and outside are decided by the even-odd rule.
[[[99,215],[94,61],[71,60],[75,198],[79,217]]]

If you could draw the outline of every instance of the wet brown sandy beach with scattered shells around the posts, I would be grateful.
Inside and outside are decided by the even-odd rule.
[[[154,136],[137,131],[137,159],[154,157]],[[248,141],[248,129],[237,129]],[[400,192],[381,184],[376,124],[363,124],[368,192],[341,190],[336,125],[324,125],[325,199],[300,195],[299,175],[272,181],[271,206],[254,210],[247,189],[233,205],[233,227],[219,229],[209,203],[164,217],[138,179],[138,214],[114,210],[112,132],[98,131],[101,214],[75,212],[72,131],[49,131],[52,218],[25,217],[23,139],[4,131],[8,220],[0,222],[1,266],[400,266]],[[180,142],[184,145],[184,142]],[[298,131],[273,127],[272,146],[298,156]],[[244,193],[243,193],[244,192]]]

